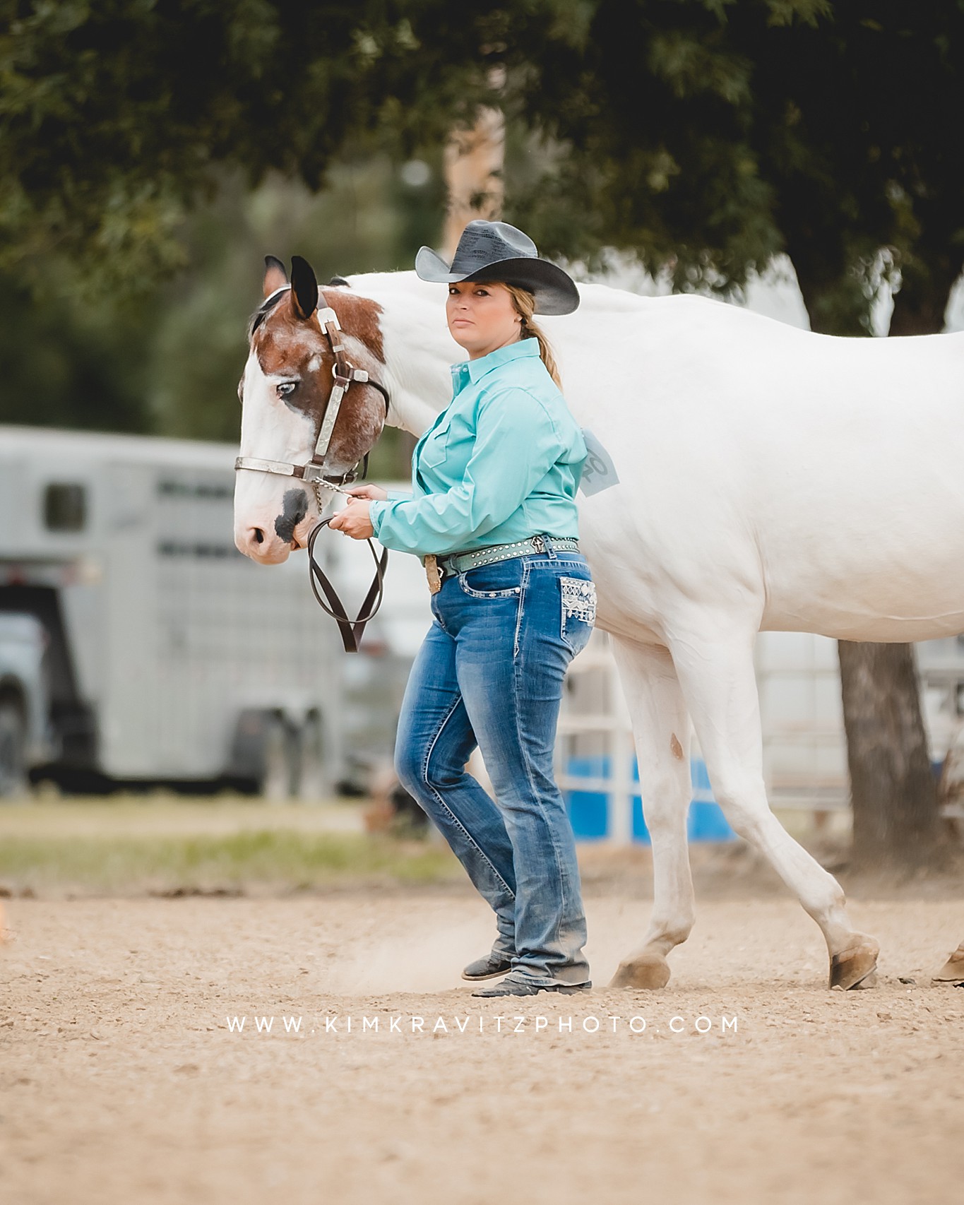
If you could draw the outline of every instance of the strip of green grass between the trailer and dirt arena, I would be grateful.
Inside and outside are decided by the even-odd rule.
[[[0,882],[13,889],[98,890],[428,884],[458,876],[445,847],[354,833],[242,830],[224,835],[8,835]]]

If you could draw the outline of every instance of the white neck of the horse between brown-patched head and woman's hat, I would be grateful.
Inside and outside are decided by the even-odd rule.
[[[352,288],[382,307],[380,325],[392,406],[388,422],[421,435],[451,398],[449,365],[464,352],[445,323],[445,293],[415,272],[352,277]]]

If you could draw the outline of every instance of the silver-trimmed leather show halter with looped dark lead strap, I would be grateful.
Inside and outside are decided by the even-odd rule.
[[[258,313],[255,315],[254,324],[251,330],[252,335],[258,329],[258,325],[264,316],[274,308],[281,294],[288,292],[289,289],[290,284],[282,284],[280,289],[275,289],[274,293],[264,299]],[[289,464],[284,460],[263,460],[259,457],[240,455],[235,459],[234,466],[235,471],[239,469],[249,469],[253,472],[271,472],[280,477],[298,477],[300,481],[311,484],[315,489],[315,499],[318,504],[318,512],[321,515],[324,510],[322,489],[330,489],[336,494],[345,494],[347,490],[343,487],[354,481],[358,475],[357,469],[360,462],[355,463],[347,472],[340,475],[327,471],[328,449],[331,445],[331,435],[335,430],[335,422],[337,421],[339,411],[341,410],[341,402],[348,393],[352,383],[358,382],[358,384],[369,384],[372,389],[377,389],[378,393],[381,393],[384,399],[386,418],[388,418],[390,399],[384,386],[378,384],[377,381],[372,381],[365,369],[357,369],[349,363],[345,354],[345,345],[341,342],[341,323],[339,322],[339,316],[328,305],[324,293],[322,293],[321,289],[318,289],[318,301],[321,305],[315,311],[318,317],[318,325],[322,329],[322,334],[328,340],[328,346],[331,349],[331,354],[335,357],[335,363],[331,368],[334,384],[331,386],[328,405],[325,406],[324,415],[322,416],[322,425],[318,430],[318,437],[315,441],[315,452],[312,453],[311,460],[308,460],[307,464]],[[364,459],[365,463],[368,463],[368,453],[365,453]],[[388,548],[382,548],[382,554],[380,557],[375,551],[375,545],[371,540],[366,541],[371,551],[371,556],[375,559],[375,578],[369,587],[369,592],[365,595],[365,601],[362,604],[362,610],[358,616],[354,619],[349,619],[335,587],[325,576],[322,566],[315,559],[315,541],[318,539],[318,533],[322,528],[328,527],[328,523],[329,519],[322,519],[308,535],[308,580],[318,605],[337,623],[345,652],[357,653],[358,646],[362,642],[362,634],[365,630],[365,624],[372,618],[378,607],[382,605],[382,598],[384,596],[384,572],[388,566]],[[328,599],[328,602],[325,602],[322,598],[322,594],[318,590],[319,586]]]

